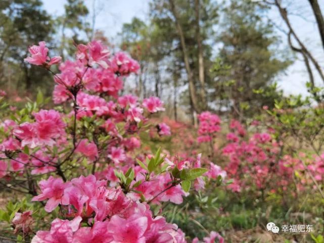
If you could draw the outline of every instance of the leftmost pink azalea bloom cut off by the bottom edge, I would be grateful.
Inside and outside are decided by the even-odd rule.
[[[81,221],[80,216],[71,221],[55,219],[52,222],[51,230],[37,231],[31,243],[72,243],[73,232],[78,230]]]

